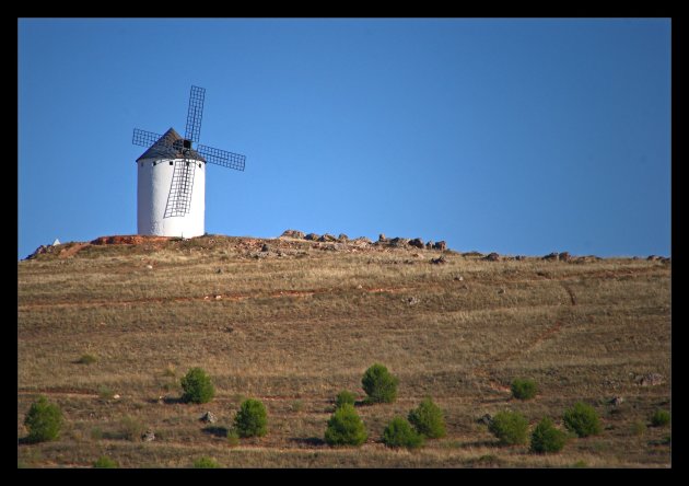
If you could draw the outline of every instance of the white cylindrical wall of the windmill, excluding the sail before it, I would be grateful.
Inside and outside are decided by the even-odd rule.
[[[171,165],[170,162],[173,164]],[[189,213],[183,217],[164,218],[175,162],[176,160],[173,159],[142,159],[137,162],[137,230],[139,234],[192,238],[206,232],[206,164],[203,162],[191,161],[196,163],[196,169]]]

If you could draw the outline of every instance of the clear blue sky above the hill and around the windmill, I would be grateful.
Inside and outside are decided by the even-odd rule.
[[[209,233],[670,254],[669,20],[19,20],[17,256],[137,231],[206,88]]]

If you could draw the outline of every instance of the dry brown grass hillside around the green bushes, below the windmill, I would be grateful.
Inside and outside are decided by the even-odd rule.
[[[267,244],[267,247],[262,247]],[[17,264],[17,465],[190,467],[668,467],[670,274],[667,262],[606,258],[484,261],[477,255],[208,235],[140,244],[68,243]],[[84,355],[94,362],[79,362]],[[336,394],[359,400],[381,362],[399,378],[393,404],[357,407],[369,441],[323,441]],[[179,379],[201,367],[215,398],[179,403]],[[658,373],[659,384],[642,383]],[[511,397],[532,378],[534,400]],[[66,423],[26,443],[38,395]],[[115,395],[119,395],[115,398]],[[416,451],[381,436],[431,395],[447,437]],[[622,397],[621,405],[610,404]],[[240,403],[268,409],[266,437],[232,445]],[[576,401],[604,431],[560,453],[501,447],[478,419],[522,412],[535,426]],[[218,423],[199,417],[210,410]],[[143,442],[150,429],[155,440]]]

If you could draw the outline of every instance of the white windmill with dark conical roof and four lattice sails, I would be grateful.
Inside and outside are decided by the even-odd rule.
[[[200,236],[205,230],[206,164],[244,171],[246,157],[198,144],[206,90],[191,86],[184,138],[135,128],[131,142],[148,147],[137,159],[137,230],[159,236]],[[192,143],[197,142],[196,149]]]

